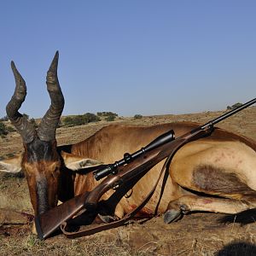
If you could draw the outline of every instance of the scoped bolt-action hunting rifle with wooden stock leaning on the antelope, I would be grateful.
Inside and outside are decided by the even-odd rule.
[[[129,154],[129,157],[124,157],[123,160],[119,160],[113,165],[109,165],[96,171],[94,175],[97,179],[105,176],[108,177],[105,178],[102,183],[97,185],[95,189],[77,195],[73,199],[63,202],[61,205],[35,217],[38,238],[44,240],[49,237],[55,230],[60,228],[61,224],[66,223],[67,220],[73,218],[83,209],[85,209],[86,212],[96,211],[98,201],[109,189],[117,188],[121,186],[122,183],[127,183],[134,177],[139,177],[145,170],[148,172],[161,160],[164,160],[170,155],[173,156],[177,152],[177,149],[181,148],[184,144],[195,141],[201,137],[209,136],[214,129],[213,125],[230,117],[234,113],[253,105],[255,102],[256,98],[250,102],[242,104],[239,108],[224,113],[216,119],[212,119],[207,122],[207,124],[201,125],[176,139],[174,139],[174,132],[168,131],[154,139],[148,146],[138,150],[134,154]],[[109,175],[111,173],[113,175]],[[123,223],[124,222],[122,222],[122,224]],[[112,227],[114,227],[114,224]]]

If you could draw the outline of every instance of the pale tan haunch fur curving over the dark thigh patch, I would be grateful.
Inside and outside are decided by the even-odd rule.
[[[244,143],[213,140],[189,143],[177,151],[171,176],[180,186],[198,190],[192,175],[199,166],[214,166],[221,172],[236,173],[243,183],[256,190],[256,152]]]

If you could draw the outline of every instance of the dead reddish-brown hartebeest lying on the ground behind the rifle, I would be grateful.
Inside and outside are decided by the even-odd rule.
[[[57,78],[57,63],[58,53],[46,78],[51,105],[36,130],[18,112],[26,97],[26,84],[12,62],[16,87],[6,110],[22,137],[25,151],[22,156],[0,161],[0,169],[25,172],[35,215],[55,207],[58,200],[67,201],[96,186],[91,172],[79,170],[119,160],[125,152],[137,151],[165,131],[173,129],[178,137],[198,126],[189,122],[147,127],[108,125],[80,143],[58,147],[55,130],[64,98]],[[122,218],[143,201],[162,165],[160,162],[154,166],[134,185],[130,195],[119,201],[113,211],[115,218]],[[160,185],[143,213],[154,212],[159,195]],[[177,151],[158,210],[165,213],[164,220],[170,223],[183,212],[236,213],[253,207],[256,207],[256,143],[215,129],[211,137],[188,143]]]

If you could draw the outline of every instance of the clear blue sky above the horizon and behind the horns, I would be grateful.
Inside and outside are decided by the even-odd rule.
[[[225,109],[256,96],[256,1],[0,1],[0,117],[26,80],[21,113],[49,108],[60,51],[63,114]]]

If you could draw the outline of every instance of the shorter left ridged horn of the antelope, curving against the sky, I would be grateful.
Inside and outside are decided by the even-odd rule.
[[[26,83],[15,67],[14,61],[11,62],[11,67],[15,75],[16,87],[14,95],[6,106],[6,113],[12,124],[15,125],[15,128],[20,133],[23,142],[31,143],[35,134],[34,125],[32,125],[26,117],[18,112],[21,104],[26,98]]]

